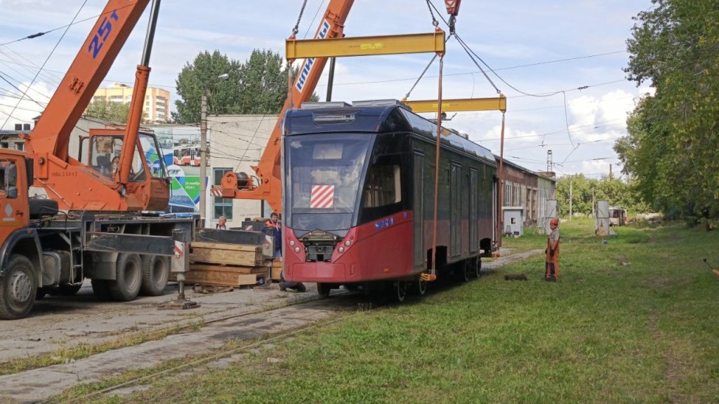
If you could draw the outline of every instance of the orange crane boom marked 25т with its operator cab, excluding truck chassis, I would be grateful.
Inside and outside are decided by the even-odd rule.
[[[109,0],[75,56],[50,103],[27,135],[27,157],[35,161],[35,186],[45,188],[60,208],[89,211],[164,210],[170,196],[162,165],[147,164],[145,153],[159,150],[152,134],[139,134],[145,103],[147,66],[160,1],[153,2],[145,52],[137,66],[127,125],[92,130],[88,164],[68,155],[70,132],[109,71],[149,0]],[[83,157],[82,147],[81,160]]]

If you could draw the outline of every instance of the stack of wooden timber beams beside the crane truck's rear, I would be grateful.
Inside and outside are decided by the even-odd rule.
[[[265,236],[261,232],[202,229],[195,240],[186,282],[239,287],[267,277],[270,262],[262,254]]]

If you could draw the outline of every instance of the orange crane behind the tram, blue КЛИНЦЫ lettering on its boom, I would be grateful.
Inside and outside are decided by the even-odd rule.
[[[454,19],[459,13],[459,4],[461,2],[462,0],[444,0],[447,13],[451,16],[452,27],[454,27]],[[344,22],[353,3],[354,0],[331,0],[327,5],[324,18],[321,19],[315,38],[342,37]],[[293,39],[294,35],[290,38]],[[258,165],[252,166],[252,170],[255,170],[256,179],[251,178],[247,173],[230,171],[222,178],[221,185],[211,188],[212,196],[234,199],[264,199],[270,204],[273,211],[281,211],[280,139],[282,137],[283,119],[288,109],[296,108],[310,99],[326,63],[327,58],[308,58],[305,60],[294,85],[288,91],[288,98],[282,111],[280,111],[280,117],[275,123],[270,139],[267,140],[267,146],[265,146],[265,151],[262,152],[260,162]]]

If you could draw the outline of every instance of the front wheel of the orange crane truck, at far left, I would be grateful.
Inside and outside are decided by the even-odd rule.
[[[0,277],[0,319],[23,318],[32,309],[37,280],[32,262],[24,255],[12,255],[4,277]]]

